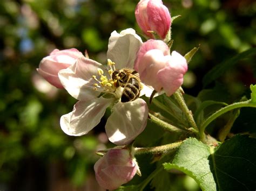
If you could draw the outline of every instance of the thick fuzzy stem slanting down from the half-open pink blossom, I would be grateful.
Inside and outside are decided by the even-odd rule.
[[[192,128],[194,128],[195,130],[198,130],[198,127],[197,127],[196,122],[194,121],[192,112],[188,109],[188,107],[185,103],[185,100],[183,98],[183,95],[179,91],[176,91],[176,93],[174,93],[173,96],[177,100],[177,102],[180,106],[180,109],[184,112],[184,114],[188,120],[188,123],[190,123]]]

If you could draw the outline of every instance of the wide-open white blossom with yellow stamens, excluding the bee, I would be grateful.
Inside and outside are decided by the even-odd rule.
[[[60,118],[62,130],[72,136],[81,136],[93,129],[107,107],[112,114],[105,130],[109,140],[117,145],[129,144],[144,129],[148,108],[141,98],[120,102],[123,88],[115,87],[113,70],[133,68],[142,40],[133,29],[111,33],[107,51],[108,67],[88,58],[78,58],[69,68],[60,70],[59,78],[69,94],[78,102],[73,111]],[[151,91],[152,92],[152,91]],[[141,91],[141,95],[144,91]]]

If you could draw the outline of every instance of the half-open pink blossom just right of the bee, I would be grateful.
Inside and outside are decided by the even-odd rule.
[[[187,62],[176,51],[170,55],[169,48],[163,41],[151,39],[140,47],[134,69],[142,82],[156,91],[163,89],[170,96],[183,83]]]

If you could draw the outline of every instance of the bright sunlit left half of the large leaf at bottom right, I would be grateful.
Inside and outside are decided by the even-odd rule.
[[[189,138],[180,145],[172,164],[165,163],[167,170],[176,168],[191,176],[203,190],[217,190],[209,165],[210,147],[195,138]]]

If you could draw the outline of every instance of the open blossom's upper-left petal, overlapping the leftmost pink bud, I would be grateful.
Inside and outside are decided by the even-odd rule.
[[[105,70],[103,65],[94,60],[79,58],[71,67],[59,71],[59,79],[69,94],[77,100],[97,97],[100,91],[93,89],[96,80],[92,76],[98,75],[98,68]]]

